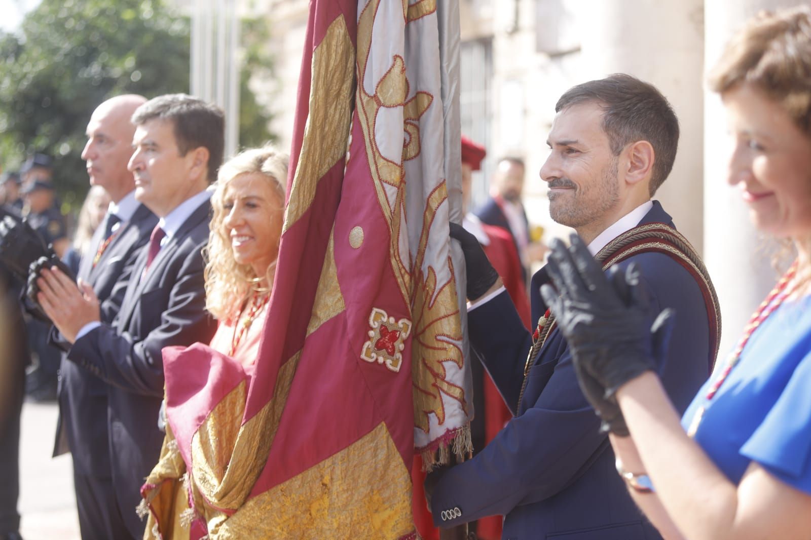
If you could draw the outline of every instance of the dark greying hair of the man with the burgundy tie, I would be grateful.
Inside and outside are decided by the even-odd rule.
[[[216,180],[225,147],[222,109],[187,94],[166,94],[152,98],[132,114],[135,126],[156,119],[174,123],[174,139],[181,156],[195,148],[208,149],[208,182]]]

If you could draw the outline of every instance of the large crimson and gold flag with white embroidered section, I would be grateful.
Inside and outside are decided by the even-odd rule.
[[[260,355],[165,351],[148,538],[416,538],[415,447],[469,446],[440,26],[436,0],[311,1]]]

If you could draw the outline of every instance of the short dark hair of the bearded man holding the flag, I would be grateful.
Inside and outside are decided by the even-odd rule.
[[[636,77],[615,73],[569,88],[560,96],[555,112],[582,103],[602,106],[603,131],[615,156],[638,140],[646,140],[654,148],[650,176],[650,195],[654,195],[670,174],[679,146],[679,119],[662,92]]]

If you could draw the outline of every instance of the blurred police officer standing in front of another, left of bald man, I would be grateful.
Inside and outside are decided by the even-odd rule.
[[[31,178],[30,176],[28,178]],[[23,186],[24,216],[28,225],[54,248],[61,259],[71,242],[62,214],[54,206],[54,186],[37,178]],[[28,321],[28,345],[36,353],[36,367],[26,377],[25,390],[35,401],[56,400],[57,375],[61,355],[48,345],[50,325],[36,319]]]

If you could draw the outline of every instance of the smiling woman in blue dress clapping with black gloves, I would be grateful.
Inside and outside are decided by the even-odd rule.
[[[581,388],[611,431],[617,469],[665,538],[811,538],[811,8],[763,13],[710,74],[727,111],[731,186],[796,261],[684,417],[650,358],[672,314],[652,312],[633,268],[606,276],[557,242],[543,298]]]

